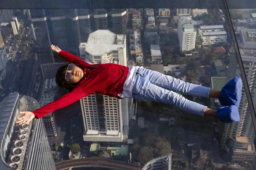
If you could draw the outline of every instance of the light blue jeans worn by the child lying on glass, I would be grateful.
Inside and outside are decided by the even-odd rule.
[[[156,101],[204,116],[207,106],[192,102],[175,92],[209,98],[210,88],[184,82],[180,79],[145,68],[139,68],[134,79],[132,96],[140,101]]]

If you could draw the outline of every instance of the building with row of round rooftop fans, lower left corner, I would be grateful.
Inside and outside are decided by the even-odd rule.
[[[0,170],[55,170],[43,119],[16,125],[19,111],[34,111],[38,102],[17,92],[0,103]]]

